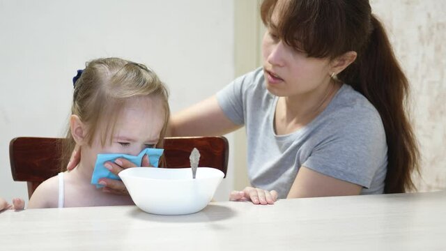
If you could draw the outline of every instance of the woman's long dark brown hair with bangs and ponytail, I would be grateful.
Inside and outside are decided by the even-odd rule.
[[[414,190],[411,174],[419,171],[420,153],[406,105],[409,84],[382,24],[371,14],[368,0],[291,0],[261,5],[263,23],[280,10],[279,37],[310,57],[335,59],[357,52],[357,59],[337,75],[362,93],[378,110],[387,140],[385,193]]]

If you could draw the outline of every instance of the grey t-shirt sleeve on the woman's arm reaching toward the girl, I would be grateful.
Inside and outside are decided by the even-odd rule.
[[[237,125],[244,125],[246,118],[247,90],[254,86],[262,75],[261,68],[236,78],[231,84],[217,92],[217,101],[224,114]]]

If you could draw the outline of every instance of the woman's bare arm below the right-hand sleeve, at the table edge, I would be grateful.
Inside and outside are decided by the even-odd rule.
[[[360,185],[341,181],[302,166],[286,198],[360,195],[361,188]]]

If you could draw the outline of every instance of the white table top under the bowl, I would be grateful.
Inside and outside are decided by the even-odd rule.
[[[3,211],[0,250],[446,250],[446,192]]]

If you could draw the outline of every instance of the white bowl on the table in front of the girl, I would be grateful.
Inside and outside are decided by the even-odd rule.
[[[205,208],[222,181],[222,171],[191,168],[132,167],[119,173],[130,196],[141,210],[160,215],[196,213]]]

